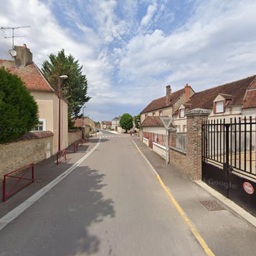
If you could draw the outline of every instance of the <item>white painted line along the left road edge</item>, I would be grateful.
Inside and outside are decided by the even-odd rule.
[[[23,203],[18,205],[16,208],[12,209],[8,214],[0,219],[0,230],[2,230],[6,225],[8,225],[11,221],[17,218],[20,214],[22,214],[27,208],[29,208],[33,203],[35,203],[38,199],[44,196],[50,189],[52,189],[55,185],[57,185],[61,180],[63,180],[66,176],[68,176],[77,166],[80,165],[84,160],[86,160],[99,146],[101,141],[101,137],[99,137],[99,142],[92,148],[92,150],[80,158],[77,162],[75,162],[71,167],[65,170],[64,173],[60,174],[46,186],[38,190],[33,196],[25,200]]]

